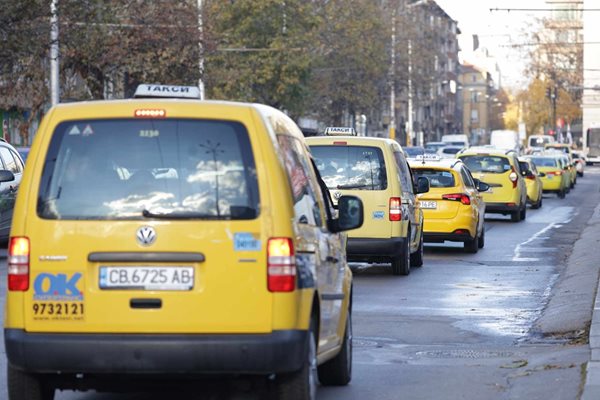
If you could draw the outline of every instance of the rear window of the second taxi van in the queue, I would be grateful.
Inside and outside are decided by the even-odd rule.
[[[319,173],[329,189],[385,190],[383,153],[370,146],[311,146]]]

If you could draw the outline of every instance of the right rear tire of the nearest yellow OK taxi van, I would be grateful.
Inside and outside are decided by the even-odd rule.
[[[311,320],[307,335],[307,352],[304,364],[299,371],[277,377],[277,399],[316,400],[317,385],[317,338],[314,319]]]

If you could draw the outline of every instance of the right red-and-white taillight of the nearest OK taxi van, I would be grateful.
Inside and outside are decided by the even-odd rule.
[[[267,287],[270,292],[296,289],[296,257],[290,238],[271,238],[267,243]]]

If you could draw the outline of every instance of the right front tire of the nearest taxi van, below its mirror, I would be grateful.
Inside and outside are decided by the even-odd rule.
[[[317,368],[319,381],[326,386],[344,386],[352,380],[352,314],[348,310],[342,349],[337,356]]]

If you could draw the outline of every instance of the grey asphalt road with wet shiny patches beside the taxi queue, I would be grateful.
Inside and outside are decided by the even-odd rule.
[[[590,357],[586,333],[543,336],[535,321],[600,201],[599,188],[600,170],[588,169],[566,199],[546,195],[525,221],[487,215],[479,253],[427,245],[424,266],[408,277],[392,276],[388,265],[353,265],[353,380],[320,388],[319,398],[577,399]],[[0,270],[5,274],[5,264]],[[57,399],[261,399],[266,393],[262,382],[246,381],[186,389],[185,395],[177,385],[136,394],[61,392]],[[6,399],[3,384],[0,399]]]

